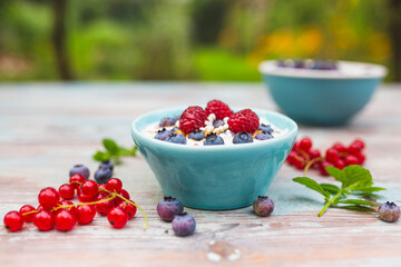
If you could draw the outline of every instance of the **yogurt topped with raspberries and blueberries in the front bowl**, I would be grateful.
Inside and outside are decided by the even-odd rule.
[[[277,129],[266,118],[258,118],[251,109],[234,112],[221,100],[209,101],[205,109],[188,107],[182,115],[163,118],[144,129],[149,138],[187,146],[268,141],[286,131]]]

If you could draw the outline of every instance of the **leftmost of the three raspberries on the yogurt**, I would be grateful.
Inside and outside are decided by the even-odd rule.
[[[207,120],[207,115],[203,108],[198,106],[188,107],[184,110],[179,119],[179,129],[185,134],[190,134],[203,127],[205,125],[205,120]]]

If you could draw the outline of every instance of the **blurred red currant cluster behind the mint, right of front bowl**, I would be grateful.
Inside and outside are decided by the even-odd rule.
[[[335,142],[322,156],[319,149],[312,149],[312,140],[304,137],[294,144],[286,161],[297,169],[306,171],[313,167],[319,169],[322,176],[329,176],[325,168],[330,166],[343,169],[349,165],[363,165],[365,161],[364,147],[365,145],[361,139],[355,139],[349,147]]]

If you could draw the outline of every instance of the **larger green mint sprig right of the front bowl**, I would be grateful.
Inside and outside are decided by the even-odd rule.
[[[331,184],[319,184],[309,177],[296,177],[293,180],[319,192],[324,197],[325,205],[319,212],[321,217],[331,207],[361,208],[376,207],[379,205],[363,199],[349,199],[348,197],[373,197],[374,192],[385,190],[382,187],[373,187],[373,178],[368,169],[359,165],[351,165],[340,170],[334,167],[326,168],[329,175],[341,182],[341,187]]]

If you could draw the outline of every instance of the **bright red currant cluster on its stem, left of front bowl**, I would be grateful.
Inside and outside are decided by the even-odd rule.
[[[75,196],[78,197],[79,204],[70,201]],[[86,180],[80,174],[74,174],[69,184],[60,186],[59,190],[52,187],[42,189],[38,200],[38,208],[25,205],[19,211],[8,212],[4,216],[6,228],[18,231],[25,222],[33,221],[42,231],[51,230],[53,227],[60,231],[69,231],[77,222],[91,222],[98,212],[100,216],[107,216],[110,225],[119,229],[134,218],[137,208],[144,214],[145,229],[147,226],[146,214],[130,200],[118,178],[110,178],[106,184],[98,185],[94,180]]]

